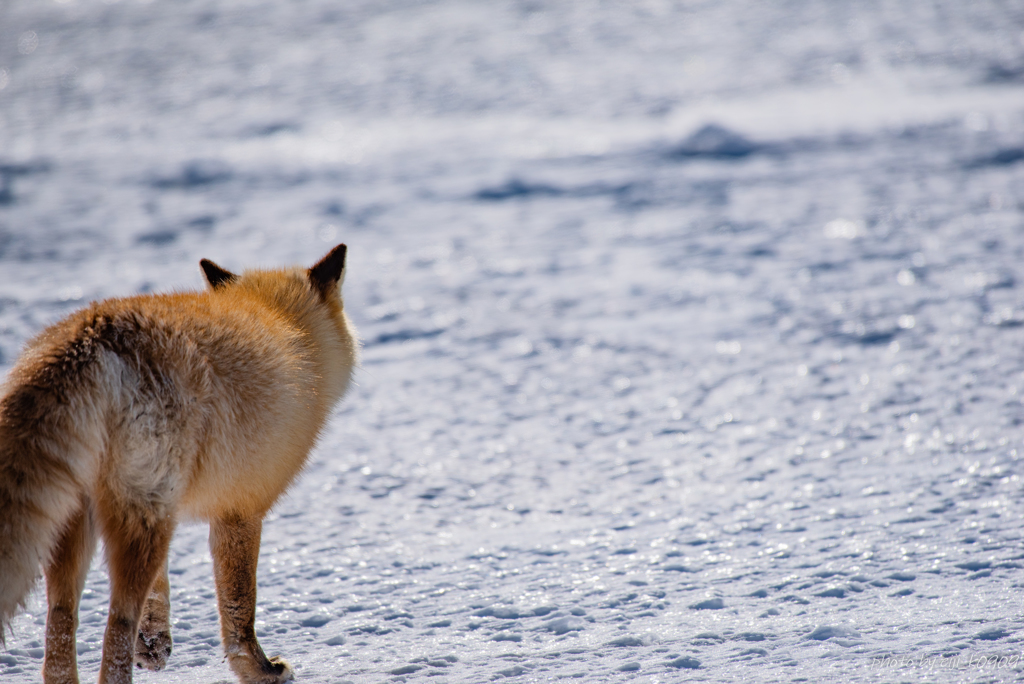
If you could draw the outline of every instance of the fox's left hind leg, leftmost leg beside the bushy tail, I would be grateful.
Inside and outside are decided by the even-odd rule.
[[[89,561],[96,548],[96,526],[89,502],[72,516],[46,566],[46,684],[78,684],[78,606]]]

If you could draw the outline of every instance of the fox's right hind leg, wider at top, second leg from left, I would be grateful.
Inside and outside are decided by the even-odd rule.
[[[111,572],[111,609],[99,684],[130,684],[132,680],[139,621],[150,589],[167,562],[174,532],[169,517],[147,521],[142,514],[132,513],[100,511]]]

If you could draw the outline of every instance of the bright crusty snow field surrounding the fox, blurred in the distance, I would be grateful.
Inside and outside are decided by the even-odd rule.
[[[0,2],[0,371],[339,242],[362,369],[260,556],[298,681],[1024,677],[1019,3]],[[234,681],[206,537],[136,681]]]

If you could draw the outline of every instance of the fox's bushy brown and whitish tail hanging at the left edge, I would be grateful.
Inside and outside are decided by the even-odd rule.
[[[15,369],[8,380],[17,375]],[[61,396],[32,380],[8,383],[0,397],[0,645],[40,565],[81,510],[89,470],[82,432],[95,426],[80,396]]]

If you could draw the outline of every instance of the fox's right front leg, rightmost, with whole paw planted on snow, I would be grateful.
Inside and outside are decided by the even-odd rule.
[[[267,658],[256,640],[256,562],[263,521],[225,516],[210,522],[210,553],[220,608],[220,635],[231,670],[243,684],[294,679],[280,657]]]

